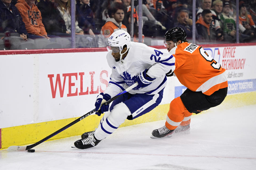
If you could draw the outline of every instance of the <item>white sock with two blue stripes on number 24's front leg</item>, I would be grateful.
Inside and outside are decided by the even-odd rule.
[[[96,129],[94,133],[95,138],[102,140],[112,134],[129,115],[131,115],[131,112],[124,103],[115,105],[109,116],[106,119],[104,118],[99,128]]]

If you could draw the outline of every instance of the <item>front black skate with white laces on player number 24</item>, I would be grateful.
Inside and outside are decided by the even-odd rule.
[[[74,145],[78,149],[87,149],[98,145],[99,142],[100,140],[95,139],[94,135],[89,135],[85,139],[75,141]]]

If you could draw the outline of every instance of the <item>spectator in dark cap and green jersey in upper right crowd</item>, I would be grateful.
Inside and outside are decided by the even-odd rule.
[[[220,15],[222,30],[225,33],[225,41],[234,42],[236,40],[235,19],[230,16],[229,2],[223,2],[223,12]]]

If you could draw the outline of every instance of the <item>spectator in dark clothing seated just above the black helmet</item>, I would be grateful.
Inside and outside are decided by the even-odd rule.
[[[189,11],[181,10],[178,12],[175,27],[183,28],[187,33],[187,38],[192,38],[192,20],[189,18]]]

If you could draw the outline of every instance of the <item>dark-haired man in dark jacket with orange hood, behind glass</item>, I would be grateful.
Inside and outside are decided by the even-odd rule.
[[[218,35],[216,30],[210,27],[213,16],[210,10],[203,10],[202,16],[196,22],[198,37],[200,40],[223,40],[223,35]]]

